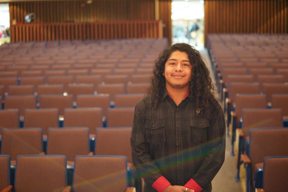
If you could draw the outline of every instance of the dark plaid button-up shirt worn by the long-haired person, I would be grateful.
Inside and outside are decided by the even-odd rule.
[[[202,191],[211,191],[211,181],[225,158],[225,120],[222,111],[213,119],[199,116],[188,95],[177,106],[165,92],[158,108],[152,96],[135,108],[131,134],[133,163],[145,180],[144,191],[164,176],[171,185],[184,186],[191,178]]]

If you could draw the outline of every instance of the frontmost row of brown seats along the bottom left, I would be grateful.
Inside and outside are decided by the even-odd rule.
[[[125,156],[77,155],[71,183],[65,155],[18,155],[15,179],[10,176],[9,155],[0,155],[0,166],[1,192],[10,192],[12,189],[43,192],[135,192],[135,187],[128,187]]]

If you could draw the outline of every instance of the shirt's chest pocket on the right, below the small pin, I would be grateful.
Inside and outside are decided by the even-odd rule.
[[[210,122],[206,118],[194,118],[190,120],[190,139],[194,143],[204,143],[207,141],[207,128]]]

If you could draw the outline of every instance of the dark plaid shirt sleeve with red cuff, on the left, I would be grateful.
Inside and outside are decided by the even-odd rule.
[[[145,182],[147,182],[152,187],[158,188],[158,189],[155,188],[156,190],[161,191],[162,188],[165,187],[168,183],[166,182],[167,180],[164,178],[164,176],[158,169],[158,166],[155,164],[153,159],[151,159],[149,153],[149,145],[147,143],[145,136],[144,114],[145,114],[145,102],[141,100],[135,107],[134,119],[132,125],[132,133],[130,139],[132,149],[132,160],[133,164],[136,166],[139,176],[143,177]],[[157,182],[154,184],[156,180]],[[168,187],[168,185],[166,187]]]

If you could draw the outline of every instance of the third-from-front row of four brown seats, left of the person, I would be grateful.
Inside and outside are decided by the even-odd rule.
[[[103,118],[100,107],[65,108],[63,115],[57,108],[24,110],[21,118],[18,109],[0,110],[0,130],[3,128],[42,128],[46,135],[49,127],[88,127],[90,136],[95,137],[96,127],[132,127],[134,107],[115,107],[107,109]],[[1,137],[0,137],[1,138]]]

